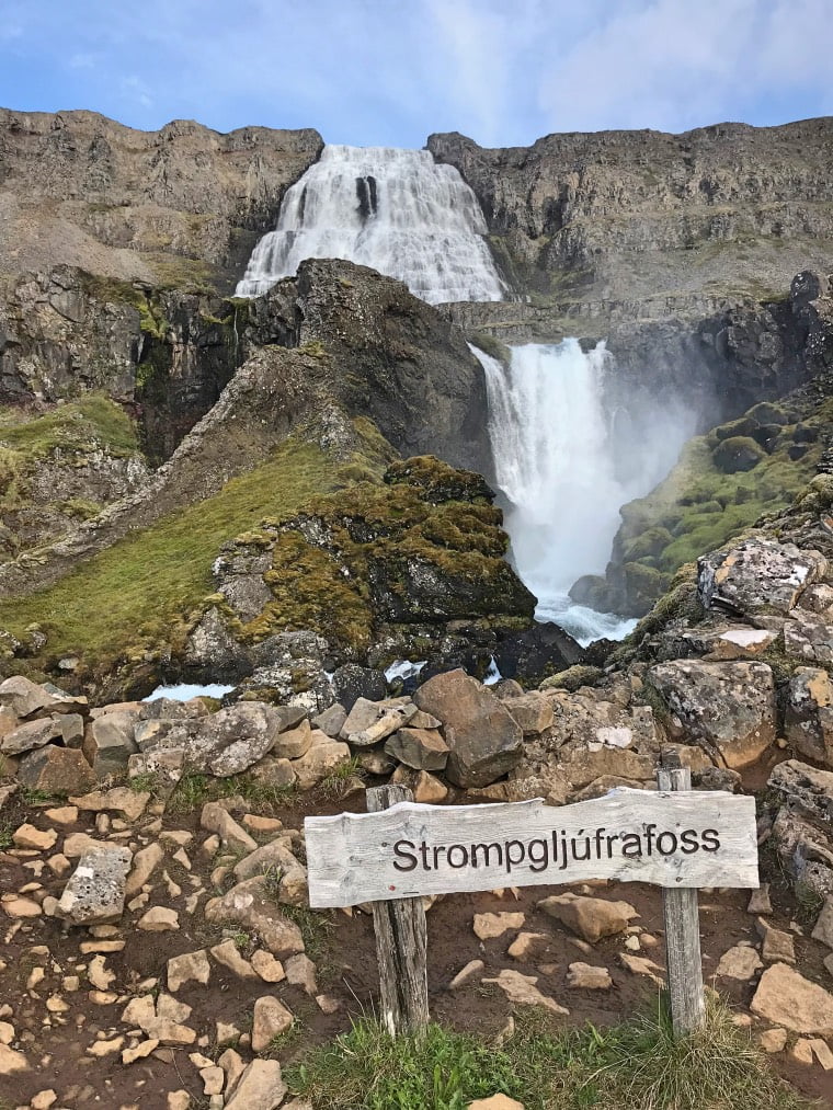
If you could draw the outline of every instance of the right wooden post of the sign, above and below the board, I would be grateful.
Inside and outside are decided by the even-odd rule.
[[[691,771],[682,766],[676,751],[663,753],[656,783],[661,790],[673,794],[691,789]],[[700,1029],[705,1020],[697,892],[663,890],[662,902],[671,1020],[675,1036],[685,1037]]]

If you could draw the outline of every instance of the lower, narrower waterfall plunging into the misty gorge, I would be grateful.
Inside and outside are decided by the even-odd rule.
[[[622,465],[604,408],[603,342],[586,354],[574,339],[515,346],[508,370],[472,350],[485,371],[495,476],[510,502],[505,527],[538,618],[580,644],[621,639],[634,620],[574,605],[568,591],[584,574],[604,573],[620,507],[664,477],[691,431],[676,414],[658,413]]]

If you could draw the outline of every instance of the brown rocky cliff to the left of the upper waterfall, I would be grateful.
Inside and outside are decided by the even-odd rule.
[[[0,110],[0,278],[63,264],[230,292],[322,145],[311,129],[134,131],[96,112]]]

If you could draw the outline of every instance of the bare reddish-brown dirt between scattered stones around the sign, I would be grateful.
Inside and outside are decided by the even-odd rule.
[[[16,827],[29,820],[40,828],[49,828],[43,809],[12,806],[3,810],[7,825]],[[303,817],[309,813],[334,813],[342,809],[363,808],[363,796],[354,795],[343,801],[323,800],[308,796],[303,809],[298,806],[275,810],[288,828],[302,827]],[[126,842],[131,842],[150,818],[143,817],[129,830]],[[262,995],[277,995],[295,1016],[295,1025],[285,1036],[275,1052],[281,1062],[297,1059],[310,1045],[332,1038],[349,1027],[350,1019],[372,1012],[377,1003],[378,977],[375,968],[374,937],[371,917],[359,910],[352,916],[342,911],[317,915],[323,927],[312,934],[312,945],[308,948],[318,968],[319,990],[338,999],[340,1008],[332,1015],[321,1011],[313,998],[300,987],[281,982],[270,986],[260,981],[249,982],[238,979],[230,971],[214,965],[208,986],[190,982],[177,993],[177,999],[193,1008],[187,1023],[194,1028],[200,1040],[190,1048],[162,1048],[144,1060],[124,1066],[119,1051],[102,1058],[88,1053],[88,1048],[99,1039],[110,1039],[127,1033],[121,1023],[121,1012],[127,1001],[147,980],[164,983],[165,962],[171,956],[190,952],[218,944],[228,935],[223,928],[208,924],[201,907],[208,897],[217,891],[211,886],[212,862],[203,859],[199,844],[207,834],[199,827],[199,813],[189,815],[165,815],[165,829],[182,829],[194,835],[188,847],[191,862],[189,871],[184,866],[165,858],[162,868],[153,877],[153,889],[147,905],[139,911],[126,912],[119,929],[119,937],[127,944],[121,952],[106,957],[107,967],[116,973],[112,991],[118,999],[108,1005],[97,1005],[90,999],[89,983],[84,982],[80,970],[88,965],[90,955],[82,955],[80,944],[89,941],[86,929],[67,929],[54,918],[39,917],[17,922],[0,917],[0,1007],[8,1005],[7,1020],[14,1025],[20,1047],[26,1051],[37,1070],[18,1076],[0,1078],[0,1107],[6,1110],[26,1104],[37,1092],[52,1088],[58,1094],[56,1108],[86,1110],[101,1106],[120,1110],[124,1107],[140,1107],[141,1110],[165,1110],[167,1093],[173,1090],[189,1090],[195,1107],[207,1106],[202,1097],[202,1082],[189,1053],[194,1049],[215,1059],[218,1054],[215,1022],[232,1022],[243,1032],[251,1028],[254,1001]],[[61,836],[73,831],[96,835],[94,815],[81,814],[79,820],[59,830]],[[137,844],[140,844],[137,839]],[[52,875],[47,866],[40,866],[49,856],[59,851],[59,839],[51,852],[24,854],[19,849],[0,851],[0,892],[20,891],[29,884],[40,884],[41,890],[56,898],[66,885],[67,876]],[[162,876],[181,888],[181,894],[171,892]],[[194,890],[204,888],[207,897],[193,915],[185,911],[184,902]],[[644,976],[634,975],[620,962],[624,949],[624,935],[601,940],[588,953],[569,929],[548,917],[536,908],[536,904],[552,894],[563,891],[560,887],[525,888],[516,892],[504,891],[478,895],[448,896],[439,900],[428,915],[429,922],[429,990],[431,1013],[435,1019],[458,1029],[496,1035],[506,1026],[511,1006],[505,995],[495,985],[473,979],[454,992],[449,982],[470,960],[480,959],[485,963],[483,979],[494,977],[502,968],[513,968],[524,975],[536,976],[539,989],[553,997],[570,1010],[570,1017],[561,1019],[580,1026],[592,1022],[596,1026],[613,1025],[633,1015],[640,1007],[655,1003],[659,988]],[[659,889],[641,885],[609,885],[593,890],[604,898],[624,899],[639,911],[634,922],[644,932],[655,937],[659,945],[635,955],[649,957],[655,963],[664,965],[662,897]],[[786,900],[785,891],[773,886],[775,914],[773,924],[789,929],[795,916],[794,905]],[[747,891],[703,892],[700,898],[700,921],[704,978],[714,985],[740,1015],[747,1012],[754,992],[752,983],[731,979],[714,980],[720,957],[741,941],[757,942],[754,917],[746,912]],[[171,906],[179,911],[178,931],[148,934],[138,931],[136,920],[154,905]],[[481,941],[472,930],[474,914],[521,911],[525,916],[523,929],[544,934],[549,938],[546,949],[536,955],[532,962],[511,958],[506,949],[516,930],[502,937]],[[251,947],[257,947],[252,938]],[[802,973],[825,983],[830,979],[822,965],[825,951],[810,939],[795,934],[797,969]],[[247,955],[245,945],[242,955]],[[613,987],[608,991],[575,990],[566,987],[566,972],[575,961],[605,966],[611,973]],[[33,968],[42,967],[44,976],[34,986],[28,986]],[[63,986],[66,976],[80,975],[80,988],[74,991]],[[50,1012],[47,1000],[60,997],[68,1005],[66,1012]],[[764,1028],[755,1026],[755,1028]],[[126,1042],[127,1043],[127,1042]],[[241,1048],[241,1054],[249,1059],[251,1052]],[[792,1062],[787,1053],[771,1057],[772,1066],[785,1076],[804,1094],[820,1098],[824,1106],[833,1108],[833,1072],[825,1074],[819,1066],[803,1067]],[[6,1102],[1,1100],[6,1099]]]

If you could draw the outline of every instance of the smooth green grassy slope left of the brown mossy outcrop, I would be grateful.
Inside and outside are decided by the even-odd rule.
[[[111,663],[128,649],[141,658],[184,637],[189,614],[212,589],[211,564],[225,541],[265,515],[297,512],[333,483],[333,465],[314,444],[289,440],[215,496],[129,534],[53,586],[0,603],[0,627],[20,635],[40,624],[50,656]]]

